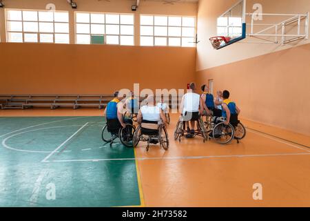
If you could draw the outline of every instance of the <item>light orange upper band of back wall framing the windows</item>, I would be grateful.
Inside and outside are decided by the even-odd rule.
[[[4,1],[6,8],[21,8],[21,9],[34,9],[45,10],[45,6],[48,3],[54,3],[56,10],[67,10],[70,16],[70,44],[74,44],[74,11],[83,12],[116,12],[116,13],[134,13],[135,14],[135,45],[139,45],[140,35],[140,22],[139,17],[141,14],[150,15],[197,15],[197,3],[175,3],[163,4],[158,1],[140,1],[140,6],[136,12],[132,12],[131,8],[135,1],[129,0],[111,0],[98,1],[98,0],[79,0],[78,8],[72,10],[69,3],[66,0],[10,0]],[[6,41],[5,30],[5,16],[4,9],[0,8],[0,37],[1,42]]]

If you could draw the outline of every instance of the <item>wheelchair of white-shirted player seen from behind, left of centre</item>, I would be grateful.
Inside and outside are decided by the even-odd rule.
[[[147,142],[146,151],[149,151],[149,144],[158,144],[165,151],[169,148],[169,137],[167,129],[163,124],[142,120],[141,125],[136,128],[133,138],[133,145],[136,147],[139,142]]]

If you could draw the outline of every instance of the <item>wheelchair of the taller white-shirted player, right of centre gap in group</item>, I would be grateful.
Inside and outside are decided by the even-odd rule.
[[[176,123],[176,129],[174,131],[174,140],[178,140],[180,142],[181,137],[184,137],[188,134],[187,129],[185,128],[186,127],[185,122],[186,121],[184,121],[183,115],[180,116],[178,119],[178,123]],[[198,129],[194,131],[193,137],[196,137],[196,136],[203,137],[203,142],[205,143],[205,141],[207,140],[207,130],[203,123],[203,118],[199,116],[196,122],[197,122]]]

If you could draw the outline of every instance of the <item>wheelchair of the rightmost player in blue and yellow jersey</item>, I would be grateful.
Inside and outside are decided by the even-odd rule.
[[[219,144],[229,144],[231,140],[236,139],[237,143],[242,140],[247,131],[245,126],[238,120],[238,115],[231,115],[229,124],[225,124],[224,117],[212,117],[207,122],[209,138],[213,138]]]

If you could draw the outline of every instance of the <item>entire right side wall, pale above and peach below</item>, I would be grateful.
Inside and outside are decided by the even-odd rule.
[[[289,131],[310,135],[310,44],[293,45],[232,44],[214,50],[209,37],[216,35],[216,18],[225,12],[231,0],[200,1],[196,81],[214,80],[216,90],[229,90],[231,99],[241,108],[241,117]],[[310,11],[309,0],[255,1],[266,13]],[[248,1],[248,11],[251,10]],[[308,71],[307,71],[308,70]]]

